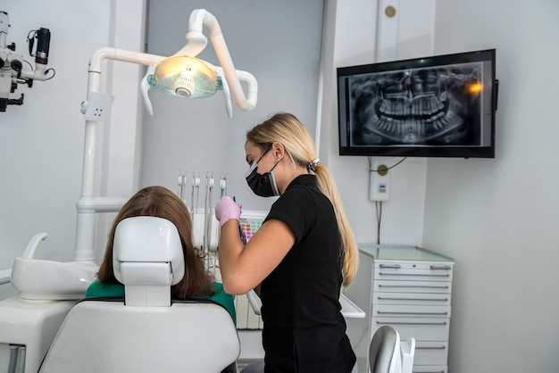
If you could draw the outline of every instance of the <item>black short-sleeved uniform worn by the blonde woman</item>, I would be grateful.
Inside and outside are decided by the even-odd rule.
[[[316,177],[295,178],[272,204],[271,219],[286,223],[296,242],[261,287],[265,371],[350,372],[338,223]]]

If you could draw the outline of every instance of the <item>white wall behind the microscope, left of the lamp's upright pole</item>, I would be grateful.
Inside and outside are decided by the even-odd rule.
[[[24,104],[0,113],[0,268],[10,267],[29,239],[43,231],[49,236],[38,256],[68,260],[83,155],[79,108],[86,98],[89,56],[108,43],[111,2],[8,0],[0,10],[10,17],[8,44],[15,42],[16,52],[32,64],[29,30],[50,29],[47,67],[56,71],[32,88],[19,85],[12,97],[25,94]]]

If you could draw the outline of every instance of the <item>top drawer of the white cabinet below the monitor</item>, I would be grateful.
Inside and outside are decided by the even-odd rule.
[[[375,263],[374,279],[452,281],[452,266],[429,263]]]

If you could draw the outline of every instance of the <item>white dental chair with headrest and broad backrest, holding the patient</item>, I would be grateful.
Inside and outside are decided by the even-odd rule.
[[[229,312],[211,301],[171,301],[171,285],[185,272],[179,233],[171,221],[122,220],[113,250],[124,299],[77,303],[39,372],[236,371],[240,343]]]

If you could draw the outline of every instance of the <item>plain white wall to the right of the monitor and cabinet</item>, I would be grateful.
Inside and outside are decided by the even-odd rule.
[[[428,164],[423,244],[455,258],[453,373],[559,365],[559,3],[437,3],[437,54],[496,48],[496,159]]]

